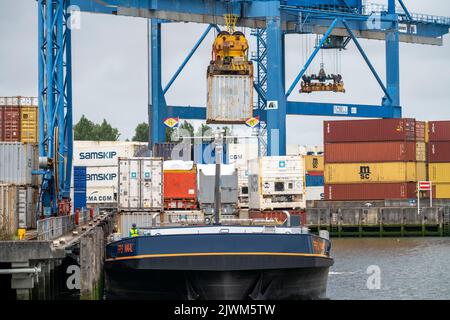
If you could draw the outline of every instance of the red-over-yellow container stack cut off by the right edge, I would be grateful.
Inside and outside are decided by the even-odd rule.
[[[428,139],[428,172],[434,197],[450,199],[450,121],[430,121]]]

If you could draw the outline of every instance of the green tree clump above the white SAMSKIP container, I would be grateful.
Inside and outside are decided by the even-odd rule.
[[[84,115],[74,126],[75,140],[93,140],[93,141],[117,141],[120,133],[117,128],[113,128],[105,119],[102,124],[96,124]]]

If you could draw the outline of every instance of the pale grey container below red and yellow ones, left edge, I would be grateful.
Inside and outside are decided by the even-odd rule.
[[[37,185],[32,171],[38,166],[38,151],[31,144],[0,142],[0,183]]]

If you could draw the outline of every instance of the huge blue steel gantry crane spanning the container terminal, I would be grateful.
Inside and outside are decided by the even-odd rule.
[[[254,83],[258,94],[254,115],[267,134],[268,155],[286,152],[286,116],[318,115],[368,118],[401,117],[399,43],[442,45],[450,18],[409,12],[402,0],[388,5],[363,0],[38,0],[39,38],[39,154],[42,208],[45,215],[64,214],[70,203],[72,168],[71,31],[78,12],[150,19],[149,124],[151,143],[165,139],[166,117],[205,119],[204,107],[168,106],[165,93],[211,29],[225,25],[225,15],[236,15],[237,26],[252,29],[257,38]],[[167,85],[163,85],[162,24],[195,22],[207,28]],[[285,35],[318,34],[321,40],[293,83],[285,83]],[[358,39],[386,44],[383,81]],[[368,64],[384,96],[376,105],[306,103],[291,101],[308,67],[320,50],[353,41]],[[205,63],[206,69],[207,63]],[[206,79],[205,79],[206,83]]]

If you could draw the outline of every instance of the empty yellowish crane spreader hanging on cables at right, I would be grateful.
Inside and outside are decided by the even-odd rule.
[[[300,93],[317,91],[332,91],[345,93],[344,82],[340,74],[327,75],[323,63],[320,65],[319,74],[303,75]]]

